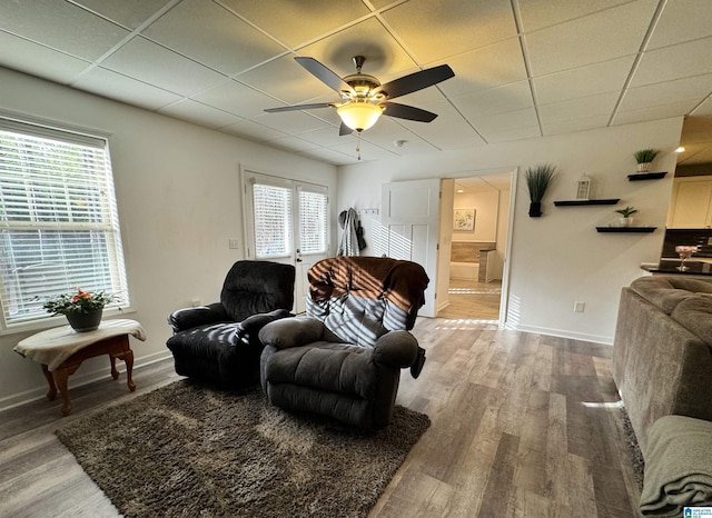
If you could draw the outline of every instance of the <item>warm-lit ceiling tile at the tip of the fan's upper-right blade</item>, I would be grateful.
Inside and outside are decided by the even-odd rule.
[[[526,79],[518,38],[448,58],[447,64],[455,77],[444,81],[441,88],[451,97]]]

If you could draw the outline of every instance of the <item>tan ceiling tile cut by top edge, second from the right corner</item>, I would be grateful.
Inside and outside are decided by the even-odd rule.
[[[631,0],[518,0],[524,32],[555,26],[564,21],[603,11]]]

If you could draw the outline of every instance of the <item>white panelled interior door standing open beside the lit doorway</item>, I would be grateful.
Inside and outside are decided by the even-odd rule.
[[[384,183],[382,189],[385,253],[393,259],[417,262],[425,269],[431,282],[418,315],[434,318],[441,180],[397,181]]]

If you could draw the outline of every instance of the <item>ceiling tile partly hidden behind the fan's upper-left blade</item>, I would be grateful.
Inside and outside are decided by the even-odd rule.
[[[276,99],[281,99],[287,104],[297,104],[318,96],[328,96],[329,102],[340,100],[338,93],[297,63],[291,54],[241,73],[236,79]],[[264,108],[277,106],[280,103],[273,99]]]

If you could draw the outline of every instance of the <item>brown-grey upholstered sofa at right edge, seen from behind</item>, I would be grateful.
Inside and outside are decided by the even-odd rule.
[[[623,288],[612,366],[645,460],[659,418],[712,420],[712,278],[642,277]]]

